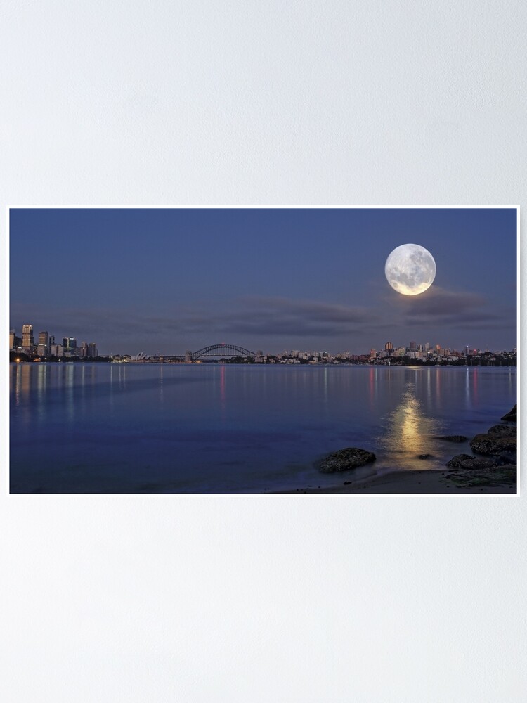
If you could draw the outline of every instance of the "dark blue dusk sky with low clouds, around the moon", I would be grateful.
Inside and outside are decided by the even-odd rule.
[[[422,295],[384,276],[405,243]],[[516,347],[515,209],[13,209],[10,256],[11,328],[101,354]]]

